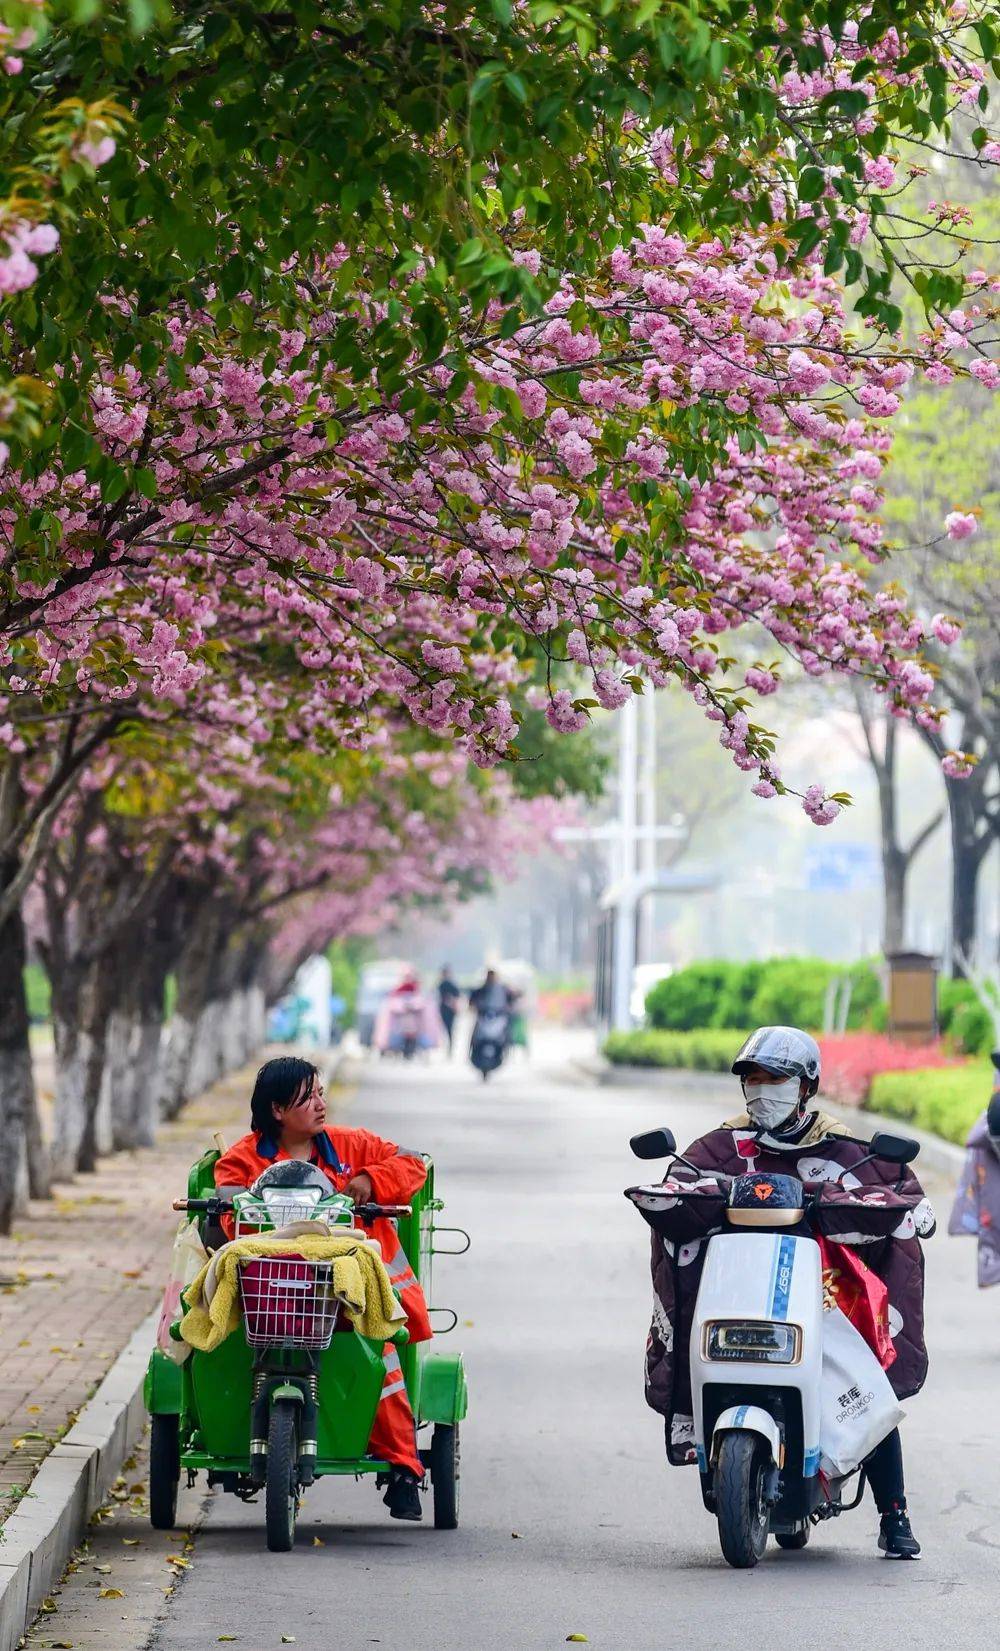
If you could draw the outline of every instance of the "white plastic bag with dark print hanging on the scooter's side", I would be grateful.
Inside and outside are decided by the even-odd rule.
[[[820,1466],[840,1478],[903,1420],[889,1379],[865,1337],[840,1308],[823,1313],[820,1384]]]

